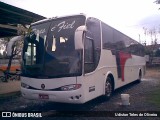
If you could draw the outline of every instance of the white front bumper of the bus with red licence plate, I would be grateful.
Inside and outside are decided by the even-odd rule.
[[[21,87],[21,94],[24,98],[45,100],[62,103],[84,103],[84,98],[81,89],[72,91],[42,91],[42,90],[31,90]]]

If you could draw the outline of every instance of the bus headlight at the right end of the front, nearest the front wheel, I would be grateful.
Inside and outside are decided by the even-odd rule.
[[[76,90],[81,87],[81,84],[72,84],[61,87],[62,91]]]

